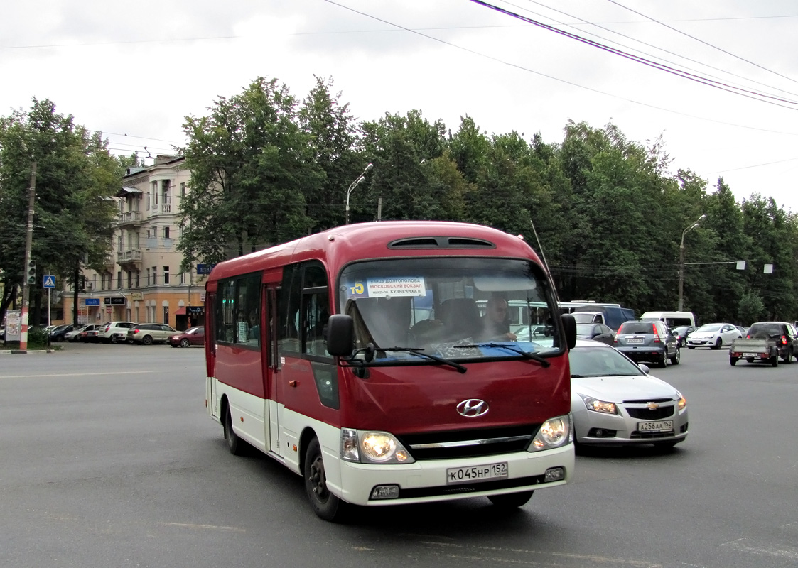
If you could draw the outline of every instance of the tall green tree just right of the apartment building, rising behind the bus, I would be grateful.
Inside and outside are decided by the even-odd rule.
[[[181,203],[183,270],[308,234],[308,213],[324,172],[299,127],[286,85],[259,77],[209,116],[187,116],[183,149],[191,191]]]

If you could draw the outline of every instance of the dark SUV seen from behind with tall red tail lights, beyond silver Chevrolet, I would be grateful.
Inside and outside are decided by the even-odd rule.
[[[624,321],[612,345],[635,362],[648,361],[666,367],[669,360],[678,365],[681,359],[681,346],[662,320]]]

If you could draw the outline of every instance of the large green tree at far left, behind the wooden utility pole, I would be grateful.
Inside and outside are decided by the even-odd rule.
[[[22,283],[31,164],[37,164],[31,322],[41,321],[41,275],[79,290],[82,270],[98,268],[111,248],[120,185],[118,162],[101,133],[57,114],[52,101],[0,119],[0,266],[6,267],[0,318]],[[77,306],[77,302],[75,302]],[[74,315],[77,318],[77,315]],[[77,321],[77,320],[76,320]]]

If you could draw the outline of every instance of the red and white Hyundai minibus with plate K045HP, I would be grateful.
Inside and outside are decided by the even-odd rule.
[[[518,301],[548,314],[510,332]],[[207,412],[232,453],[253,446],[303,475],[322,519],[346,503],[519,507],[571,476],[575,323],[520,237],[337,227],[220,262],[205,314]]]

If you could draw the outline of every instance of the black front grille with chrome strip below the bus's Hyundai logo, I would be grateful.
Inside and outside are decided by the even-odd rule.
[[[398,436],[416,460],[450,460],[524,452],[540,424]]]

